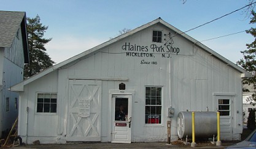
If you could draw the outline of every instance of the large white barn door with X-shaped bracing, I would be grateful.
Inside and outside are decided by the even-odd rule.
[[[101,140],[101,81],[69,80],[66,140]]]

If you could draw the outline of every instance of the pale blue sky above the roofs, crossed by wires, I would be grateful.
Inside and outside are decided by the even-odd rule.
[[[123,28],[134,29],[161,17],[180,31],[187,31],[248,4],[246,0],[0,0],[0,10],[23,11],[30,18],[37,14],[48,26],[45,37],[52,41],[45,47],[59,63],[106,42]],[[198,41],[219,37],[252,27],[245,9],[202,26],[188,35]],[[255,25],[254,25],[255,26]],[[236,62],[240,51],[254,40],[242,32],[202,42],[217,53]]]

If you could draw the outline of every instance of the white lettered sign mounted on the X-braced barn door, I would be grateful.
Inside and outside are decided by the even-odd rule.
[[[90,117],[90,106],[91,101],[88,99],[80,99],[79,101],[79,109],[78,109],[78,115],[79,117]]]

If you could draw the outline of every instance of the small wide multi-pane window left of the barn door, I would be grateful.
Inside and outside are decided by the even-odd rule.
[[[56,113],[56,111],[56,93],[37,93],[37,113]]]

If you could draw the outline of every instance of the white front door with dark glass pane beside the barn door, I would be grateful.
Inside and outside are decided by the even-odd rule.
[[[112,143],[131,143],[132,95],[112,96]]]

